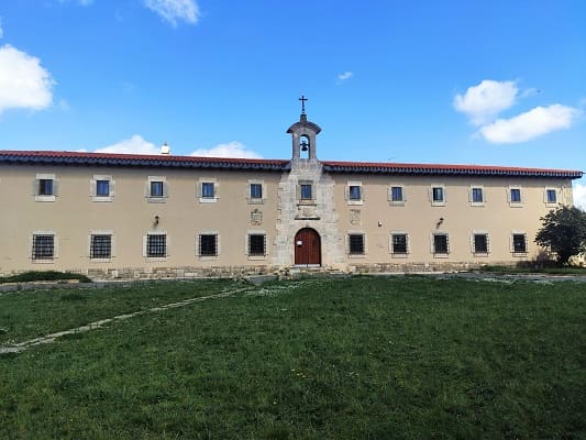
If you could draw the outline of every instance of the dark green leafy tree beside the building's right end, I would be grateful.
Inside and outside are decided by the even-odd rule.
[[[549,248],[557,256],[557,263],[566,265],[574,255],[586,253],[586,212],[576,207],[551,210],[535,235],[535,243]]]

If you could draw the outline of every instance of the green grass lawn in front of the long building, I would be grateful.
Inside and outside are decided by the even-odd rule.
[[[0,345],[242,287],[0,296]],[[276,282],[0,356],[1,439],[586,438],[586,284]]]

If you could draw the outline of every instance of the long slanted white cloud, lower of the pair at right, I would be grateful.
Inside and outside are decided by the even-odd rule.
[[[581,113],[578,109],[562,105],[535,107],[510,119],[499,119],[480,129],[480,134],[495,144],[530,141],[572,125]]]

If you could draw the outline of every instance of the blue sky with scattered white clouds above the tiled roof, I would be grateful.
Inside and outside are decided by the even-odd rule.
[[[586,2],[2,0],[0,148],[586,169]],[[575,183],[586,208],[586,180]]]

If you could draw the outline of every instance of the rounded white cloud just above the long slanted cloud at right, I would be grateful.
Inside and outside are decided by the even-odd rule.
[[[515,81],[484,79],[479,85],[468,87],[464,95],[457,94],[454,108],[465,113],[475,125],[482,125],[512,107],[518,92]]]

